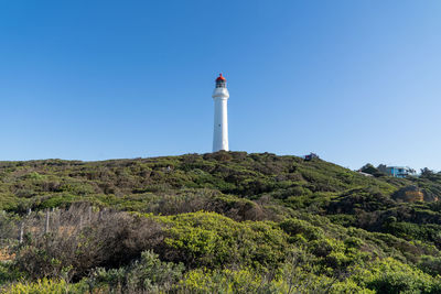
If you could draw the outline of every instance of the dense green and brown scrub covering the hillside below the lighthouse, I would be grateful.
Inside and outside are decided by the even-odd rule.
[[[0,288],[441,293],[441,175],[374,172],[245,152],[0,162]]]

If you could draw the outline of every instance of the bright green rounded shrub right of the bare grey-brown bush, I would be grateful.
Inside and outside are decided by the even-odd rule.
[[[271,222],[236,222],[214,213],[162,218],[170,228],[164,257],[191,268],[240,263],[269,269],[284,259],[287,236]]]

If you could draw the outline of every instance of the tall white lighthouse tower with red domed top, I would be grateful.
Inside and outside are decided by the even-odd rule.
[[[216,78],[216,88],[213,91],[214,99],[214,134],[213,134],[213,152],[225,150],[228,151],[228,115],[227,101],[229,92],[227,89],[225,77],[219,75]]]

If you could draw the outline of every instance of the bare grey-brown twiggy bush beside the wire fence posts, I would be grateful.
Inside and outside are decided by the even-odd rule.
[[[96,266],[120,266],[163,239],[151,218],[72,207],[53,215],[50,232],[29,232],[15,248],[15,265],[31,279],[67,271],[79,279]]]

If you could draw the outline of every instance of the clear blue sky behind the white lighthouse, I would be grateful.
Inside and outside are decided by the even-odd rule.
[[[441,1],[1,1],[0,160],[230,149],[441,170]]]

